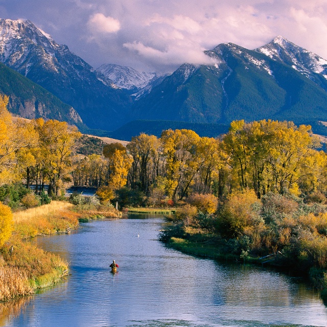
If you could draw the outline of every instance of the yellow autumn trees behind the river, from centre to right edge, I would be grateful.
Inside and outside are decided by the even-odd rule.
[[[326,154],[317,150],[320,146],[310,126],[235,121],[220,138],[186,129],[166,130],[159,138],[142,133],[126,148],[111,144],[104,146],[103,156],[74,157],[72,175],[75,185],[112,191],[118,190],[112,184],[115,175],[121,178],[119,186],[126,183],[153,205],[192,194],[223,198],[244,190],[258,198],[269,192],[310,196],[327,192]]]

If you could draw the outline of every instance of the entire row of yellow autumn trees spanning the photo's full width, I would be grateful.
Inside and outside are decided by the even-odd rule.
[[[310,126],[235,121],[220,138],[187,129],[165,130],[160,137],[142,133],[127,147],[113,143],[102,154],[85,156],[72,154],[81,136],[76,127],[15,119],[7,103],[1,97],[0,186],[24,181],[41,194],[47,184],[52,197],[72,183],[97,186],[103,201],[131,192],[141,201],[134,203],[138,205],[177,203],[193,194],[222,199],[244,190],[258,198],[270,192],[327,193],[326,154],[317,150],[320,142]]]

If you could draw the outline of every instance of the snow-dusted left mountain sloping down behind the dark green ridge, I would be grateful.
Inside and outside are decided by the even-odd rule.
[[[0,19],[0,61],[73,106],[91,128],[119,126],[131,102],[110,79],[29,20]]]

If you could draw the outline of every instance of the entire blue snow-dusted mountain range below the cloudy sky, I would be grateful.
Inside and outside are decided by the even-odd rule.
[[[113,63],[95,69],[31,21],[0,19],[0,61],[63,103],[43,101],[45,109],[38,103],[19,109],[27,100],[19,102],[11,89],[16,99],[11,109],[22,116],[42,116],[50,106],[62,120],[82,120],[102,130],[133,120],[174,121],[174,126],[178,121],[229,124],[236,119],[327,121],[327,61],[318,55],[282,36],[255,50],[222,43],[203,55],[206,64],[185,63],[164,76]],[[34,95],[31,101],[42,103],[42,97]],[[45,116],[52,117],[49,112]]]

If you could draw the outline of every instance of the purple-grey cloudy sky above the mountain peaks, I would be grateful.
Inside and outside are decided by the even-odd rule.
[[[282,35],[327,59],[326,0],[0,0],[91,66],[173,72],[220,43],[255,49]]]

